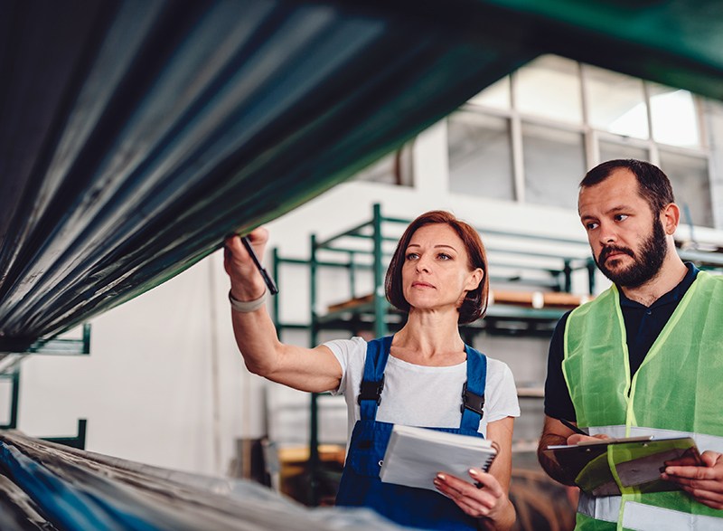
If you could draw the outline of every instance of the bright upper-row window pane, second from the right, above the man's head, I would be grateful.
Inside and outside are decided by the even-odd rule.
[[[624,137],[648,138],[643,81],[587,65],[584,72],[590,125]]]

